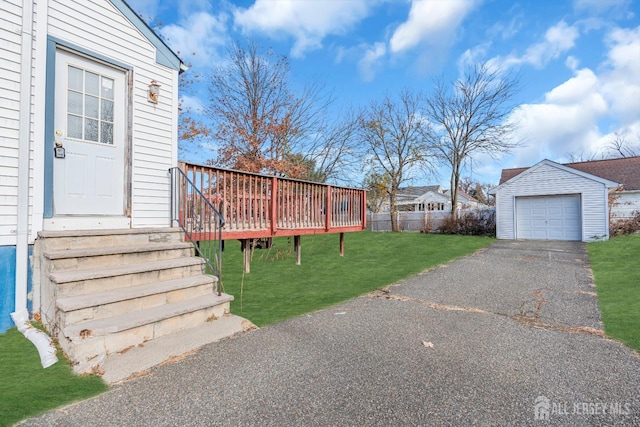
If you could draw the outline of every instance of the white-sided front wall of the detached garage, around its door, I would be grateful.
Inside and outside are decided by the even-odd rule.
[[[608,238],[608,201],[606,186],[552,165],[505,183],[496,194],[496,234],[498,239],[516,238],[515,206],[519,196],[580,194],[582,198],[582,240]]]

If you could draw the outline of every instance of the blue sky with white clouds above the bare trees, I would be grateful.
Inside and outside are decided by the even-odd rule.
[[[524,142],[464,176],[497,183],[502,168],[601,153],[614,132],[640,145],[640,0],[129,0],[162,22],[167,43],[207,74],[230,40],[250,37],[289,56],[298,82],[320,79],[344,107],[490,62],[521,76],[512,115]],[[192,55],[194,53],[195,55]],[[192,97],[196,107],[206,103]],[[338,106],[339,107],[339,106]],[[186,160],[211,158],[192,153]],[[440,176],[414,185],[442,183]]]

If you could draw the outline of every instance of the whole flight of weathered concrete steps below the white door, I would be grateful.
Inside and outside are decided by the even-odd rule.
[[[76,372],[229,312],[176,229],[42,232],[34,246],[41,316]]]

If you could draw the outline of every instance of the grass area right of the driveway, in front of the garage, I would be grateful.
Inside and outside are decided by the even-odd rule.
[[[604,330],[640,350],[640,236],[589,243]]]

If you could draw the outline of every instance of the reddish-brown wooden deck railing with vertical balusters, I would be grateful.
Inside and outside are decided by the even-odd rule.
[[[225,220],[222,239],[360,231],[366,192],[192,163],[179,167]],[[187,221],[191,212],[184,211]]]

